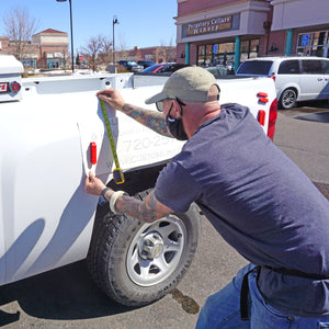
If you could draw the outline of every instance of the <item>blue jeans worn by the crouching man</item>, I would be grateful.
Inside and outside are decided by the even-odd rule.
[[[271,307],[257,287],[257,273],[249,274],[249,320],[240,318],[240,290],[243,275],[254,265],[241,269],[222,291],[211,295],[201,309],[196,329],[319,329],[329,328],[327,318],[287,316]]]

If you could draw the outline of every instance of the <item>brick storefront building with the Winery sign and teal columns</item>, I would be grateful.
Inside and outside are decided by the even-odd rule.
[[[178,63],[231,65],[282,55],[329,57],[328,0],[177,0]]]

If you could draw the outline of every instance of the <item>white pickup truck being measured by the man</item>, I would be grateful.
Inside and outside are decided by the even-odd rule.
[[[145,224],[113,215],[83,190],[90,170],[114,190],[145,197],[182,141],[128,116],[106,112],[125,182],[115,168],[99,90],[120,89],[128,103],[162,89],[167,77],[132,73],[21,78],[22,65],[0,56],[0,285],[87,259],[97,284],[124,305],[169,293],[200,240],[200,214]],[[273,138],[276,99],[270,78],[218,80],[220,103],[249,106]],[[150,105],[149,109],[156,109]],[[260,155],[261,156],[261,155]]]

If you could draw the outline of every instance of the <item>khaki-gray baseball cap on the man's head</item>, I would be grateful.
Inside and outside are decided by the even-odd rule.
[[[162,91],[147,99],[145,103],[151,104],[175,98],[188,102],[206,102],[208,91],[214,84],[217,86],[216,79],[206,69],[197,66],[185,67],[173,72]]]

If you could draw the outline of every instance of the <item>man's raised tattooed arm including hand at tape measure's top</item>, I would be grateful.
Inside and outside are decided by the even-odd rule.
[[[98,92],[97,95],[100,100],[103,100],[113,109],[125,113],[126,115],[136,120],[144,126],[155,131],[160,135],[172,137],[166,125],[162,113],[125,103],[121,93],[115,89],[105,89],[103,91]]]

